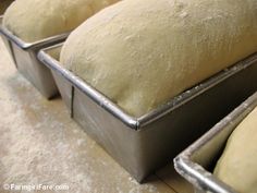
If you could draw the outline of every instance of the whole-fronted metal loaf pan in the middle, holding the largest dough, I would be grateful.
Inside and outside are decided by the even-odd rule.
[[[42,49],[38,58],[51,69],[72,118],[139,182],[257,89],[254,55],[134,118],[64,69],[58,62],[61,47]]]

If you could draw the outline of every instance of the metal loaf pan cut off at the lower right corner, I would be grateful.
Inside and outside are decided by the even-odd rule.
[[[211,171],[230,134],[256,106],[257,93],[174,159],[176,171],[195,186],[195,192],[236,193],[233,188],[217,179]]]

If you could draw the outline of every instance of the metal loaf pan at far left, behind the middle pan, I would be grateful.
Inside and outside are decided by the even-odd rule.
[[[65,40],[69,33],[49,37],[36,43],[25,43],[2,26],[0,16],[0,36],[7,46],[13,62],[19,70],[46,98],[57,95],[58,88],[51,72],[37,59],[41,48]]]

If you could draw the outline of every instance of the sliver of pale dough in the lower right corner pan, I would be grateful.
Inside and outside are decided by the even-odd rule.
[[[256,193],[257,108],[231,134],[215,174],[241,193]]]

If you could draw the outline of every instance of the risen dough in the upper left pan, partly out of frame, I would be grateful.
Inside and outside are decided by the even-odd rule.
[[[118,0],[16,0],[3,25],[25,41],[69,32],[100,9]]]

